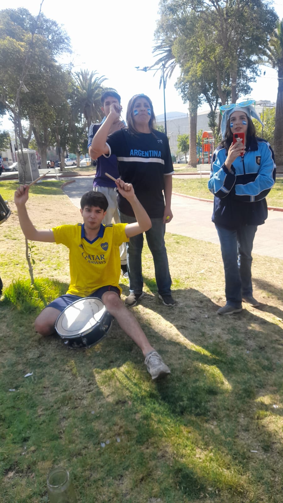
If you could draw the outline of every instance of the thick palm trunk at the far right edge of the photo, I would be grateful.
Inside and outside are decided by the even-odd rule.
[[[283,165],[283,65],[278,67],[278,91],[275,111],[274,156],[277,166]]]

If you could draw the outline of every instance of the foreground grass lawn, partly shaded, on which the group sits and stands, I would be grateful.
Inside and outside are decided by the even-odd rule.
[[[60,185],[30,189],[38,228],[80,221]],[[2,197],[16,186],[2,183]],[[11,209],[0,226],[1,501],[47,503],[47,473],[62,465],[80,503],[281,503],[283,261],[255,256],[260,308],[220,317],[218,245],[166,234],[174,308],[158,301],[145,246],[146,294],[133,313],[172,371],[153,383],[116,322],[87,350],[35,332],[36,315],[66,290],[68,253],[36,243],[31,287]]]

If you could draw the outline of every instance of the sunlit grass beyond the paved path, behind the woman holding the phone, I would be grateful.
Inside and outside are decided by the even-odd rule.
[[[207,189],[207,178],[189,180],[173,178],[173,191],[188,196],[213,200],[213,194]],[[277,178],[267,198],[268,206],[283,206],[283,178]]]

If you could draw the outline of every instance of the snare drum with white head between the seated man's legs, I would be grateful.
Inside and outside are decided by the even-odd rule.
[[[55,329],[69,347],[89,348],[106,336],[112,322],[113,316],[106,311],[101,299],[84,297],[65,307]]]

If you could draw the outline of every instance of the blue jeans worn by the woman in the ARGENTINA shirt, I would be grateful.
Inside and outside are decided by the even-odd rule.
[[[136,222],[135,217],[130,217],[119,211],[122,223]],[[165,248],[164,234],[165,224],[162,218],[152,218],[152,228],[146,231],[146,237],[151,250],[155,279],[158,293],[160,295],[171,294],[171,276],[168,266],[168,258]],[[127,248],[127,268],[129,275],[129,290],[134,293],[142,293],[144,280],[142,275],[142,251],[144,245],[144,234],[130,237],[126,243]]]

